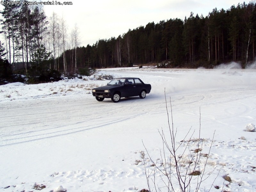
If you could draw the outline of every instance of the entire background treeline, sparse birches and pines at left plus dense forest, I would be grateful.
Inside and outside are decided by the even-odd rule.
[[[150,22],[85,47],[79,44],[79,27],[68,33],[65,20],[54,12],[47,18],[41,6],[3,2],[9,3],[1,11],[2,45],[12,70],[17,62],[36,75],[50,69],[74,74],[84,68],[146,63],[212,68],[229,61],[245,65],[255,58],[255,3],[215,8],[206,17],[191,12],[184,20]]]

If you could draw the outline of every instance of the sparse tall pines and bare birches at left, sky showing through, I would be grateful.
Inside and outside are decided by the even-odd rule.
[[[1,2],[1,33],[6,59],[15,71],[22,65],[29,76],[48,76],[47,73],[76,71],[76,47],[79,44],[78,27],[75,25],[68,34],[66,21],[56,13],[47,18],[43,6],[27,5],[26,0]],[[72,64],[66,62],[65,52],[74,50]],[[62,61],[60,62],[60,56]],[[73,62],[74,60],[74,62]],[[60,64],[62,65],[60,67]],[[71,66],[72,65],[72,66]],[[52,71],[53,70],[53,71]],[[55,71],[54,71],[55,70]],[[69,71],[68,71],[69,70]]]

